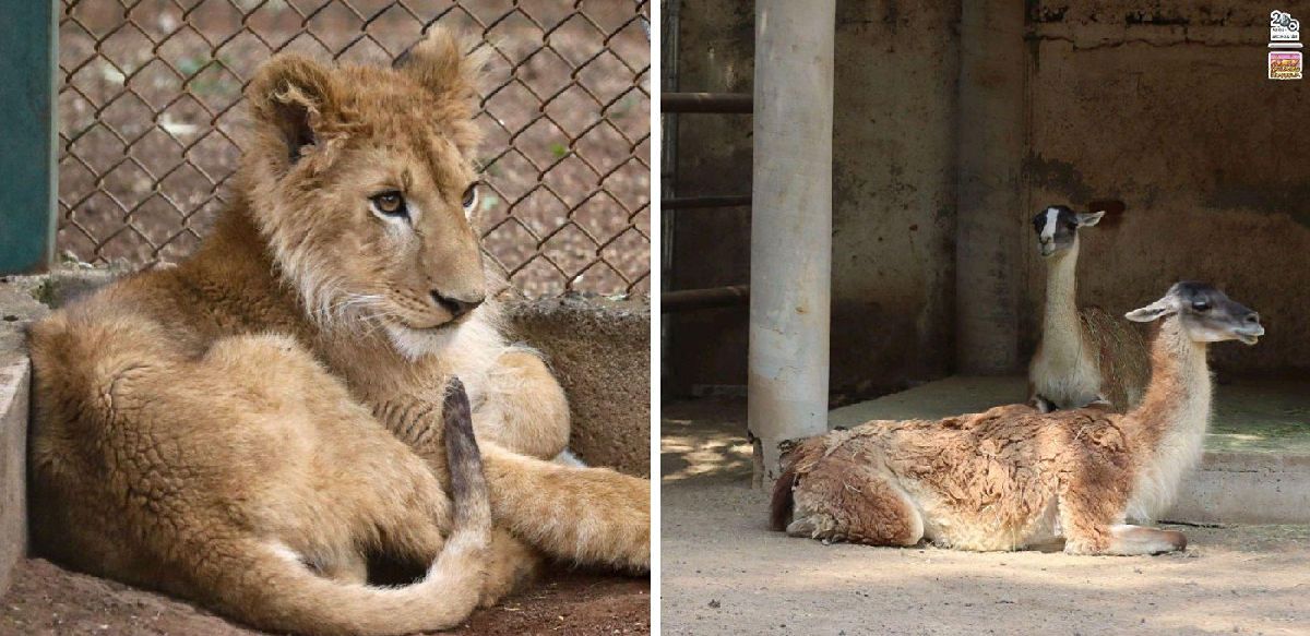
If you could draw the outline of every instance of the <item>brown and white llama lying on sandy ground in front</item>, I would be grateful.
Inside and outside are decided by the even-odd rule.
[[[1255,344],[1259,315],[1200,283],[1178,283],[1128,313],[1162,321],[1151,383],[1127,415],[1039,414],[1023,404],[938,421],[870,421],[783,454],[773,526],[794,537],[874,546],[921,539],[960,550],[1144,555],[1182,550],[1182,533],[1125,525],[1174,500],[1201,455],[1210,415],[1208,343]]]

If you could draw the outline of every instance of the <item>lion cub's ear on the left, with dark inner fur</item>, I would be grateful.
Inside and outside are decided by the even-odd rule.
[[[274,126],[286,143],[291,162],[307,145],[318,143],[325,118],[335,111],[337,84],[317,62],[300,55],[279,55],[255,73],[246,89],[257,123]]]

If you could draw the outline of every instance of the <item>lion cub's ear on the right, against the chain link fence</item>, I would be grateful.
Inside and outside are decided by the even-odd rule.
[[[449,29],[434,26],[422,42],[401,54],[393,67],[436,94],[472,102],[489,50],[466,52],[470,48],[469,42]]]

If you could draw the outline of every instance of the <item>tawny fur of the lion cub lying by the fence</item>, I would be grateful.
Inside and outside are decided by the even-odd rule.
[[[540,356],[490,304],[457,315],[430,296],[487,293],[461,203],[478,144],[461,46],[435,30],[397,69],[275,58],[196,254],[34,326],[42,551],[297,633],[451,627],[542,555],[648,568],[648,482],[550,462],[569,407]],[[392,190],[407,219],[369,207]],[[477,470],[447,465],[469,450],[445,434],[455,377]],[[461,488],[483,463],[485,493]],[[369,588],[379,552],[435,564]]]

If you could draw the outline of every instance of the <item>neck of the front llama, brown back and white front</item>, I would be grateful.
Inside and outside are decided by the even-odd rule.
[[[1125,432],[1137,465],[1128,514],[1153,520],[1174,503],[1183,476],[1201,458],[1210,421],[1210,372],[1205,344],[1187,336],[1176,315],[1151,343],[1151,380]]]

